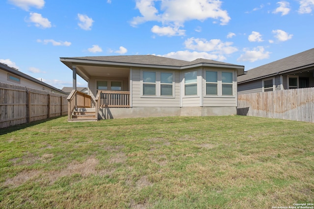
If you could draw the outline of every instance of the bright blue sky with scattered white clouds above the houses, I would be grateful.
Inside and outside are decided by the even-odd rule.
[[[1,0],[0,8],[0,62],[59,89],[72,86],[60,57],[154,54],[250,70],[314,47],[314,0]]]

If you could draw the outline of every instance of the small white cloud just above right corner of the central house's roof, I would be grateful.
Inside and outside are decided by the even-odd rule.
[[[244,48],[243,51],[244,54],[241,54],[241,56],[236,60],[238,62],[255,62],[257,60],[263,60],[269,58],[269,51],[265,51],[263,46],[258,46],[256,48],[253,48],[253,50],[250,50],[248,48]]]

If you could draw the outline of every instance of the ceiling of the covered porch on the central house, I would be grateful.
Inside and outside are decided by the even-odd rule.
[[[77,71],[81,77],[84,76],[85,78],[91,78],[91,77],[121,78],[121,77],[129,77],[130,75],[130,68],[110,67],[110,66],[77,65]]]

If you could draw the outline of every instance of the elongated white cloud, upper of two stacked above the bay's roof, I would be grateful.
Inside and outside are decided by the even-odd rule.
[[[184,42],[185,48],[196,51],[211,51],[213,54],[231,54],[237,51],[232,42],[222,42],[220,39],[189,38]]]

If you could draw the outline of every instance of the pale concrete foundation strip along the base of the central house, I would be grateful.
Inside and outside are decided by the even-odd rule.
[[[133,107],[101,108],[98,113],[98,119],[230,115],[236,115],[236,107]]]

